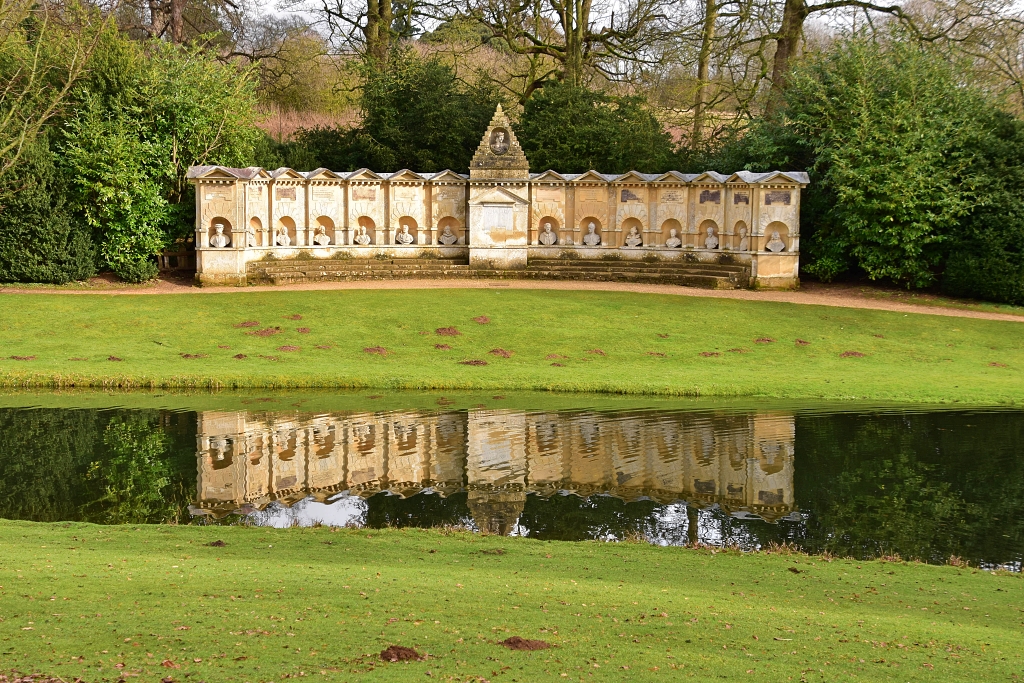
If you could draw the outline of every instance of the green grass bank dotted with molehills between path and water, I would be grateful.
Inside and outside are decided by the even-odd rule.
[[[302,319],[286,319],[296,314]],[[474,323],[479,315],[490,323]],[[253,337],[246,334],[252,330],[234,327],[244,321],[282,332]],[[449,326],[462,334],[434,334]],[[755,341],[761,338],[775,341]],[[376,346],[387,355],[364,351]],[[496,348],[513,355],[490,354]],[[604,354],[589,352],[594,349]],[[841,357],[846,351],[864,355]],[[232,357],[239,353],[247,357]],[[468,359],[487,365],[460,365]],[[773,302],[536,290],[0,298],[0,385],[7,387],[374,387],[1017,403],[1024,400],[1022,371],[1019,323]]]

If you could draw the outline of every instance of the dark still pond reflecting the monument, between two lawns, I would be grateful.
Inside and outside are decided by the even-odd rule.
[[[1019,571],[1024,411],[13,394],[0,397],[0,518],[462,525]]]

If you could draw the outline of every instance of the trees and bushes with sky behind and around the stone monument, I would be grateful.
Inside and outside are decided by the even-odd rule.
[[[141,282],[188,166],[805,170],[802,276],[1024,304],[1006,0],[0,0],[0,281]]]

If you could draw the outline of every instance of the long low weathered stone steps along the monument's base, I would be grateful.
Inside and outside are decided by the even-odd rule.
[[[471,268],[464,258],[289,259],[251,262],[247,275],[250,284],[274,285],[428,278],[622,282],[738,289],[749,286],[750,267],[689,261],[534,259],[523,269],[492,270]]]

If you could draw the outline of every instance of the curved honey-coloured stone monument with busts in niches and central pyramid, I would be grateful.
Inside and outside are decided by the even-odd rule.
[[[749,266],[751,284],[798,283],[802,172],[531,173],[498,108],[470,165],[453,171],[309,172],[196,166],[197,276],[246,283],[289,258],[689,260]]]

